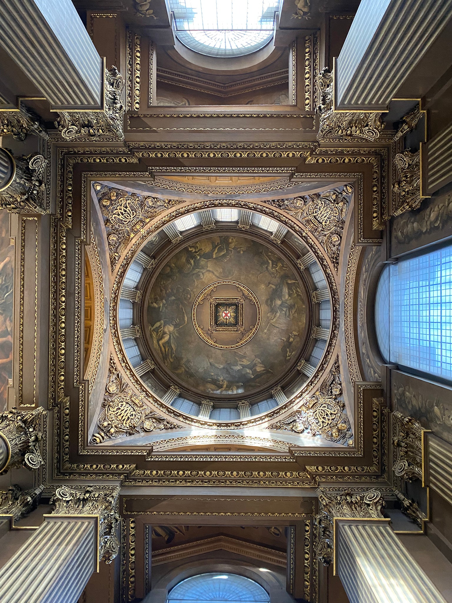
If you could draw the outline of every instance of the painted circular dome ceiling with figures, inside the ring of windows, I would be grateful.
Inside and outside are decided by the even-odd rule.
[[[199,236],[155,269],[143,335],[178,387],[201,397],[252,396],[297,362],[309,297],[277,247],[245,234]]]

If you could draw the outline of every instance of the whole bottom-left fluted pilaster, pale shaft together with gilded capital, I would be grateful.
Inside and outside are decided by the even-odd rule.
[[[0,570],[0,601],[75,603],[99,559],[118,554],[118,497],[119,487],[57,488],[54,513]]]

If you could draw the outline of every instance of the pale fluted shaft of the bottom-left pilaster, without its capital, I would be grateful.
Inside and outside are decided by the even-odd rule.
[[[0,571],[2,603],[75,603],[97,566],[95,518],[47,518]]]

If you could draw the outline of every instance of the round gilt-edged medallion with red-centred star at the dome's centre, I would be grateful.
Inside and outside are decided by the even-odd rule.
[[[259,329],[260,305],[256,295],[235,280],[219,280],[202,289],[193,304],[193,325],[198,335],[223,350],[243,346]]]

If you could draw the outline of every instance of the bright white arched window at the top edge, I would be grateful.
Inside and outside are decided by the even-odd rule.
[[[176,35],[209,57],[239,57],[273,37],[280,0],[169,0]]]

